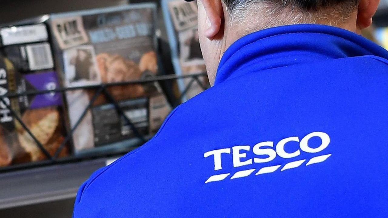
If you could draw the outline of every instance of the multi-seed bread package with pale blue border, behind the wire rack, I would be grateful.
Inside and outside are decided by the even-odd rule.
[[[155,19],[154,3],[51,15],[55,63],[61,66],[64,86],[95,86],[66,92],[76,153],[155,133],[171,111],[159,83],[123,83],[158,75]],[[108,94],[103,90],[95,96],[101,84]],[[124,112],[130,124],[118,112]]]

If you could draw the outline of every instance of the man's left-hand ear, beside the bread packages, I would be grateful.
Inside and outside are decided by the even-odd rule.
[[[200,0],[206,12],[210,27],[204,32],[207,38],[213,38],[221,30],[223,22],[223,8],[221,0]]]

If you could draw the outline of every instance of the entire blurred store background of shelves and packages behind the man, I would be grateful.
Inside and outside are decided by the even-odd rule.
[[[209,87],[196,3],[0,4],[0,217],[70,218],[92,172]],[[388,48],[388,0],[363,35]]]

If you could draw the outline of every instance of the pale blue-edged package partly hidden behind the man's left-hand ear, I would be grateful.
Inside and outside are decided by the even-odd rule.
[[[162,0],[161,5],[175,73],[177,75],[205,73],[206,68],[199,46],[196,2]],[[203,84],[208,82],[206,77],[199,79]],[[185,91],[189,82],[190,79],[178,80],[180,92]],[[190,99],[202,91],[198,83],[193,83],[183,100]]]

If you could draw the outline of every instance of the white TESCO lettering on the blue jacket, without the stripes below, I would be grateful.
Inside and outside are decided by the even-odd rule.
[[[308,140],[312,137],[319,137],[322,140],[322,144],[317,148],[312,148],[308,146]],[[300,149],[292,152],[287,153],[284,151],[284,147],[287,145],[288,142],[299,142]],[[252,152],[255,155],[267,155],[266,158],[251,158],[246,161],[241,161],[241,158],[246,158],[246,152],[242,151],[250,151],[251,146],[250,145],[239,145],[234,146],[231,149],[225,148],[225,149],[218,149],[213,151],[208,151],[204,153],[204,157],[213,156],[214,157],[214,170],[221,170],[222,169],[222,163],[221,163],[221,154],[230,154],[232,152],[233,156],[233,167],[239,167],[239,166],[245,166],[254,163],[267,163],[275,159],[277,155],[282,158],[293,158],[300,155],[300,150],[307,152],[307,153],[318,153],[320,151],[323,151],[327,148],[327,146],[330,143],[330,137],[324,132],[312,132],[305,137],[303,137],[299,141],[299,137],[289,137],[284,138],[280,140],[277,144],[275,149],[268,148],[268,147],[274,147],[274,142],[268,141],[268,142],[260,142],[253,146]],[[267,148],[263,148],[267,147]]]

